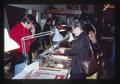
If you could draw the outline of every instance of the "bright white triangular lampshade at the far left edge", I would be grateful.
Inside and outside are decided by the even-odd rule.
[[[20,46],[12,38],[10,38],[7,28],[4,28],[4,36],[5,36],[4,38],[4,42],[5,42],[4,51],[5,52],[20,48]]]

